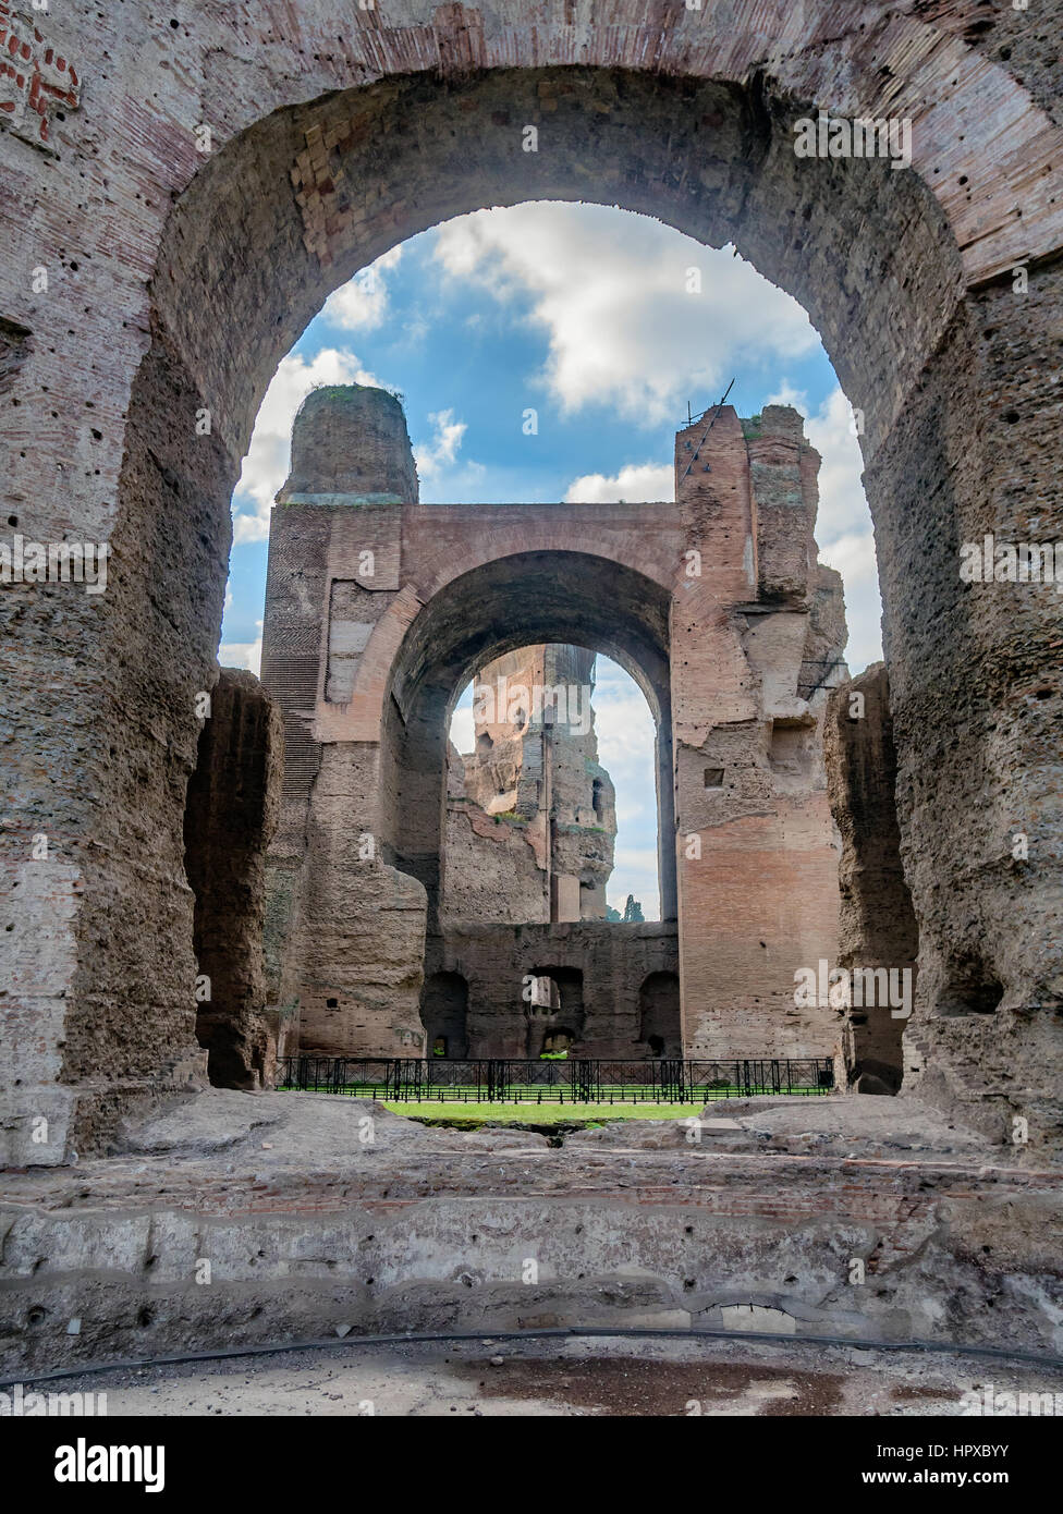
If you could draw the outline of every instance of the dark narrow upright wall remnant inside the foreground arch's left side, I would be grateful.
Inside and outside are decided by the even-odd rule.
[[[254,674],[223,668],[185,812],[185,871],[195,893],[195,1037],[207,1052],[210,1083],[223,1089],[268,1087],[277,1054],[285,1054],[276,1011],[265,1010],[262,961],[282,743],[280,710]]]

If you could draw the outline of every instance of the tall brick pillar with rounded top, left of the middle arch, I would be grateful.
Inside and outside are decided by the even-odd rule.
[[[301,1051],[422,1049],[426,892],[394,866],[382,733],[360,724],[354,698],[398,592],[401,506],[416,498],[394,395],[344,385],[307,397],[270,527],[262,627],[262,681],[283,712],[286,751],[267,970],[271,1007],[298,1025]]]

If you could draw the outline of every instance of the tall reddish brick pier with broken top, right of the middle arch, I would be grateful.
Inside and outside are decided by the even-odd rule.
[[[845,675],[842,583],[813,537],[800,415],[730,406],[675,438],[689,551],[672,612],[683,1040],[694,1057],[836,1055],[795,974],[833,961],[839,845],[822,721]]]

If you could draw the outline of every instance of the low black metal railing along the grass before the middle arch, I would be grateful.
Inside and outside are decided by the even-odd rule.
[[[754,1093],[830,1093],[830,1057],[653,1061],[286,1057],[277,1089],[438,1104],[707,1104]]]

